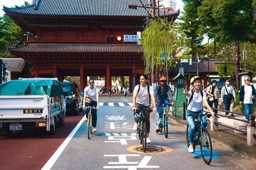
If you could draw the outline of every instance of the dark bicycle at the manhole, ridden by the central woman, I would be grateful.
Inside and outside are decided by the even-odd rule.
[[[137,109],[135,111],[135,120],[138,121],[138,127],[137,127],[137,134],[140,139],[140,144],[142,144],[143,151],[146,152],[147,148],[147,126],[146,126],[146,121],[145,121],[145,115],[144,115],[144,110],[149,109],[152,111],[151,108],[141,108]]]

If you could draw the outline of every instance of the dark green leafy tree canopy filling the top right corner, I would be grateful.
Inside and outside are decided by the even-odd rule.
[[[255,4],[255,0],[204,0],[197,12],[217,41],[256,42]]]

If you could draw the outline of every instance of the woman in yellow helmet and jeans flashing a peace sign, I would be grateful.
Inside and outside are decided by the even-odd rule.
[[[190,84],[192,84],[192,86],[194,87],[194,91],[187,92],[187,87],[185,87],[183,92],[188,99],[188,107],[187,107],[187,111],[186,111],[187,123],[190,126],[190,134],[189,134],[190,146],[188,147],[188,152],[192,153],[192,152],[194,152],[193,141],[194,141],[194,137],[196,134],[196,126],[195,126],[193,116],[202,114],[203,102],[204,102],[205,107],[207,107],[207,109],[209,110],[209,112],[212,115],[214,115],[214,112],[208,104],[207,96],[206,96],[204,90],[201,90],[201,86],[202,86],[201,78],[198,76],[194,76],[193,78],[191,78]],[[205,117],[202,117],[202,119],[204,122],[204,126],[206,127],[207,120]],[[197,120],[201,121],[200,117],[197,117]]]

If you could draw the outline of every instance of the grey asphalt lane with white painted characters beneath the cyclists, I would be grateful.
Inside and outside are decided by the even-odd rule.
[[[82,122],[51,169],[244,169],[222,155],[208,166],[201,155],[188,153],[185,128],[177,124],[169,127],[168,138],[164,134],[155,134],[155,114],[151,115],[149,146],[167,147],[171,151],[134,152],[133,147],[140,145],[140,141],[132,126],[130,107],[101,106],[98,132],[88,140],[87,124]],[[216,152],[219,151],[220,148]]]

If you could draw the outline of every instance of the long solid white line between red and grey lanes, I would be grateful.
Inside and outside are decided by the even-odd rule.
[[[52,166],[54,165],[54,163],[57,161],[57,159],[59,158],[60,154],[62,154],[62,152],[64,151],[64,149],[66,148],[66,146],[68,145],[69,141],[71,141],[71,139],[74,137],[74,134],[76,134],[77,130],[79,129],[79,127],[82,125],[82,123],[84,122],[84,118],[85,116],[79,121],[79,123],[76,125],[76,127],[73,129],[73,131],[68,135],[68,137],[66,137],[66,139],[63,141],[63,143],[59,146],[59,148],[57,149],[57,151],[54,152],[54,154],[52,155],[52,157],[46,162],[46,164],[43,166],[43,168],[41,170],[48,170],[51,169]]]

